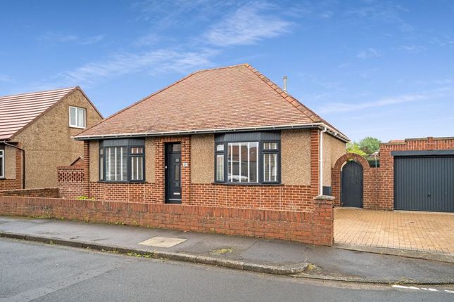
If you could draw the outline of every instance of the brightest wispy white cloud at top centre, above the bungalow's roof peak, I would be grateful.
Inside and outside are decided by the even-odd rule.
[[[211,27],[203,39],[214,46],[248,45],[288,32],[290,22],[263,13],[269,7],[264,3],[241,6]]]

